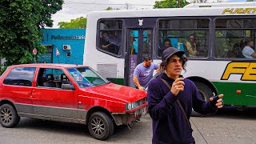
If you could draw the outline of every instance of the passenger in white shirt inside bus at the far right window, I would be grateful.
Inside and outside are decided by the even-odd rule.
[[[252,47],[254,47],[253,39],[250,39],[250,38],[246,39],[245,45],[246,46],[242,49],[242,54],[246,58],[256,58],[256,52],[252,48]]]

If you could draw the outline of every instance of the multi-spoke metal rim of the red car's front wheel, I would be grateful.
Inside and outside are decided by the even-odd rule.
[[[102,135],[105,132],[105,126],[101,118],[95,117],[91,120],[92,130],[94,134]]]

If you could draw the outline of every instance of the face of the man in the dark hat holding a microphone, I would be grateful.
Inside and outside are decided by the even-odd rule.
[[[169,59],[169,63],[166,66],[166,73],[177,76],[182,73],[182,59],[177,55],[173,55]]]

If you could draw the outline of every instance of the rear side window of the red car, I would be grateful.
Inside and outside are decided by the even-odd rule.
[[[32,86],[35,67],[14,67],[3,83],[14,86]]]

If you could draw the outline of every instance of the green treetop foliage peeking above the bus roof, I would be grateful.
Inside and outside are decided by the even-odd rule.
[[[180,7],[184,7],[189,2],[186,2],[186,0],[180,0]],[[177,8],[177,0],[165,0],[165,1],[156,1],[154,2],[154,9],[159,9],[159,8]]]

